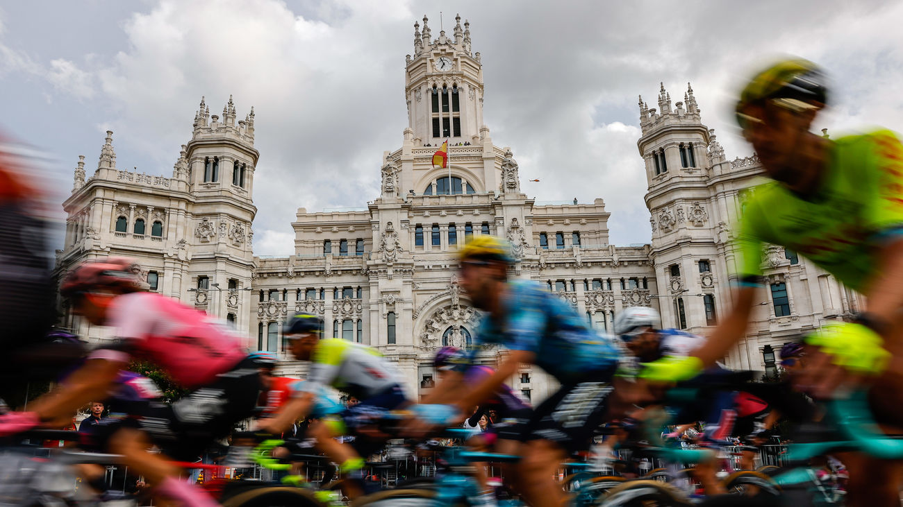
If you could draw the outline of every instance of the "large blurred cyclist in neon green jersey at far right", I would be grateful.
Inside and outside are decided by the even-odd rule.
[[[903,146],[876,129],[829,140],[810,132],[825,106],[824,73],[807,60],[763,69],[740,93],[737,120],[766,175],[749,197],[738,228],[740,289],[735,309],[705,346],[685,358],[663,358],[645,375],[689,378],[744,336],[762,285],[762,244],[792,249],[863,293],[867,311],[853,322],[807,338],[798,383],[816,397],[870,377],[875,415],[903,423]],[[898,504],[899,466],[870,460],[851,466],[852,505]]]

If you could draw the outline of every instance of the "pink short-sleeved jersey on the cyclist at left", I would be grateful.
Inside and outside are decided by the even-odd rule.
[[[154,292],[119,296],[108,317],[123,350],[98,350],[92,357],[127,361],[134,355],[184,387],[212,383],[247,356],[241,336],[226,323]]]

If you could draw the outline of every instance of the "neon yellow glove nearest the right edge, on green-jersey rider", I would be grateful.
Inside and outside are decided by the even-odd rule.
[[[834,364],[854,373],[881,373],[890,359],[878,333],[852,322],[822,327],[806,336],[805,343],[819,347],[824,354],[832,356]]]

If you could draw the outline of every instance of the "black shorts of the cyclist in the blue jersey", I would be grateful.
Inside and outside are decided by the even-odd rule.
[[[536,407],[526,425],[525,440],[550,440],[568,453],[590,448],[608,409],[611,391],[607,382],[564,384]]]

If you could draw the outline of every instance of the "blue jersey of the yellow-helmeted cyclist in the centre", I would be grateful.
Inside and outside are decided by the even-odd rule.
[[[603,340],[571,305],[535,281],[507,283],[505,317],[487,317],[477,340],[535,354],[535,364],[560,383],[610,376],[619,350]]]

